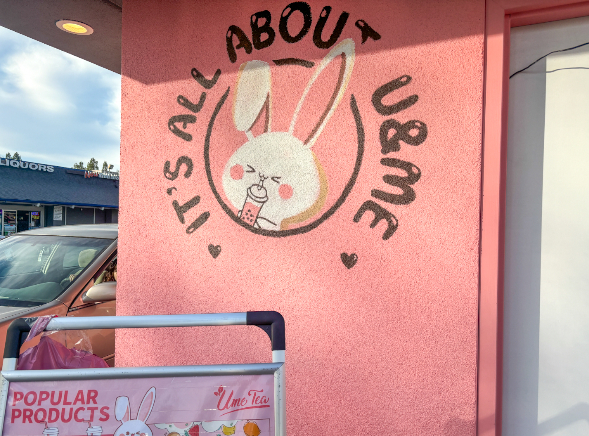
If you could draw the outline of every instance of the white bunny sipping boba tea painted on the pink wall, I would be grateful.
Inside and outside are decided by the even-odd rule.
[[[319,213],[327,197],[325,171],[311,150],[348,87],[355,46],[345,39],[320,64],[294,111],[289,131],[271,130],[272,92],[270,65],[250,61],[241,65],[233,98],[233,120],[248,141],[229,158],[223,171],[223,189],[237,216],[257,229],[286,230]],[[341,58],[332,97],[306,138],[293,136],[297,115],[319,74],[335,58]],[[252,127],[265,111],[264,133]]]

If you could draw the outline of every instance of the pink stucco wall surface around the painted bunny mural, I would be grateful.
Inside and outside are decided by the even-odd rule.
[[[294,44],[279,34],[287,5],[289,1],[125,3],[117,313],[281,312],[286,320],[291,435],[473,435],[484,2],[312,1],[310,31]],[[325,203],[288,229],[306,229],[336,204],[349,183],[358,155],[352,95],[365,134],[358,177],[335,213],[308,232],[252,232],[231,218],[239,207],[232,205],[231,190],[222,182],[227,161],[248,141],[232,116],[239,68],[253,60],[270,65],[272,131],[289,130],[307,83],[333,49],[317,48],[312,38],[326,5],[332,13],[323,40],[342,11],[348,12],[333,47],[352,39],[355,62],[339,105],[312,147],[329,186]],[[227,29],[237,26],[251,41],[250,16],[264,10],[272,14],[273,44],[253,48],[252,54],[237,49],[232,63]],[[362,44],[358,20],[381,38]],[[295,34],[300,25],[302,19],[297,21],[294,14],[289,31]],[[315,67],[273,62],[284,58],[315,62]],[[339,65],[338,56],[309,91],[295,137],[304,140],[320,118]],[[207,79],[217,69],[221,75],[205,89],[191,76],[193,68]],[[403,75],[411,83],[384,97],[383,105],[411,95],[418,95],[418,101],[398,113],[379,114],[373,93]],[[228,88],[211,130],[211,187],[204,153],[207,127]],[[203,92],[206,99],[197,113],[177,103],[183,95],[196,104]],[[176,129],[190,134],[190,141],[168,128],[171,117],[187,114],[196,116],[196,122],[186,128],[176,123]],[[402,142],[400,150],[388,150],[385,156],[379,129],[390,119],[421,121],[427,126],[425,141],[416,146]],[[261,133],[259,125],[252,130],[254,136]],[[281,144],[276,147],[287,153]],[[190,176],[184,176],[186,164],[176,179],[169,171],[166,175],[166,161],[174,171],[181,156],[193,163]],[[287,159],[280,153],[273,158]],[[407,203],[403,197],[407,204],[391,204],[371,196],[375,189],[403,192],[386,184],[383,176],[406,173],[383,166],[382,158],[421,170],[421,178],[411,185],[415,200]],[[247,164],[241,163],[245,170]],[[291,179],[300,173],[291,171],[296,164],[284,164]],[[286,179],[283,175],[278,184]],[[271,197],[278,184],[270,180],[264,181],[270,200],[260,214],[272,202],[297,198]],[[293,179],[289,184],[298,194],[312,182]],[[181,223],[173,201],[182,205],[195,196],[200,202]],[[399,203],[400,197],[394,198]],[[383,239],[385,222],[370,228],[372,212],[353,220],[368,200],[398,220],[389,239]],[[191,223],[204,212],[210,216],[192,231]],[[209,245],[213,254],[220,246],[216,257]],[[354,253],[355,265],[348,269],[342,253]],[[256,327],[117,333],[119,366],[269,360],[269,340]]]

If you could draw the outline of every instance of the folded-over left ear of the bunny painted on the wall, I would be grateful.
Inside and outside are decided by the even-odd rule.
[[[253,137],[250,130],[266,110],[264,132],[270,131],[272,92],[270,65],[262,61],[241,64],[233,93],[233,121],[237,130]]]

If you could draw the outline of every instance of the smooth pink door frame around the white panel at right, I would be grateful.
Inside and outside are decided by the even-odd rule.
[[[501,436],[509,29],[589,15],[589,1],[487,0],[485,10],[477,436]]]

